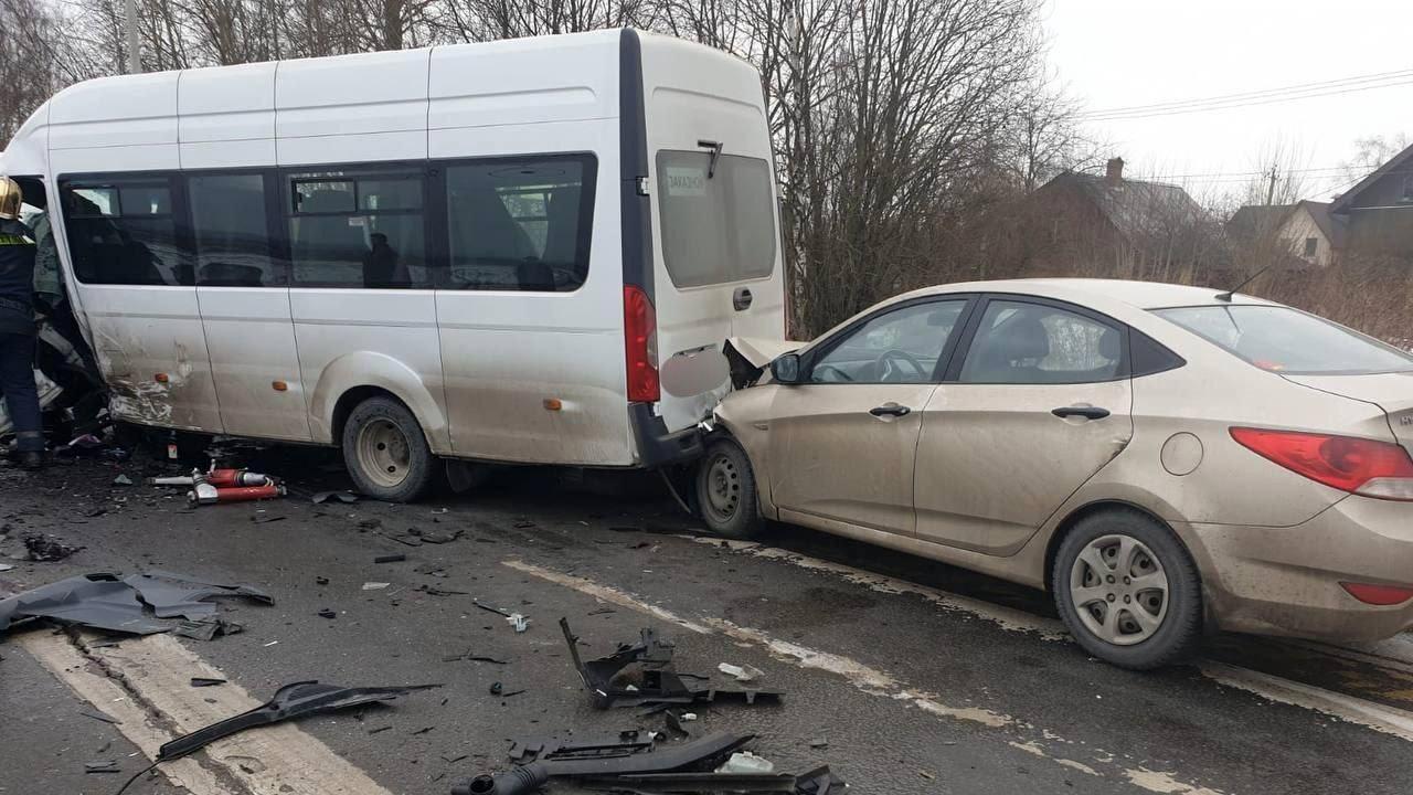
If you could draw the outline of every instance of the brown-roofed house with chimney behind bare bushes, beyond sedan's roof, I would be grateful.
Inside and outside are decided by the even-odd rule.
[[[1202,208],[1177,185],[1065,171],[993,214],[986,256],[1019,276],[1190,280],[1208,253]]]

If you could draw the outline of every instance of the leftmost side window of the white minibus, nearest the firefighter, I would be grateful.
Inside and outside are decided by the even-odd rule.
[[[167,177],[59,185],[73,272],[86,284],[195,284]]]

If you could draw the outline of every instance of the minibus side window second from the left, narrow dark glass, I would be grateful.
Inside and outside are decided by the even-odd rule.
[[[187,178],[196,240],[196,284],[283,287],[284,267],[270,256],[261,174],[194,174]]]

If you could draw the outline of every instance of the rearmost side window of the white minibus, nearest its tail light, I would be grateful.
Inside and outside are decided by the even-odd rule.
[[[589,156],[480,160],[447,167],[447,286],[568,293],[589,277]]]

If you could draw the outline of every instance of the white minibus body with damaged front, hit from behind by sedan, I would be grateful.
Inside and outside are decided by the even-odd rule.
[[[133,423],[341,444],[390,395],[435,455],[650,467],[697,453],[723,341],[784,331],[759,74],[674,38],[89,81],[6,168]]]

